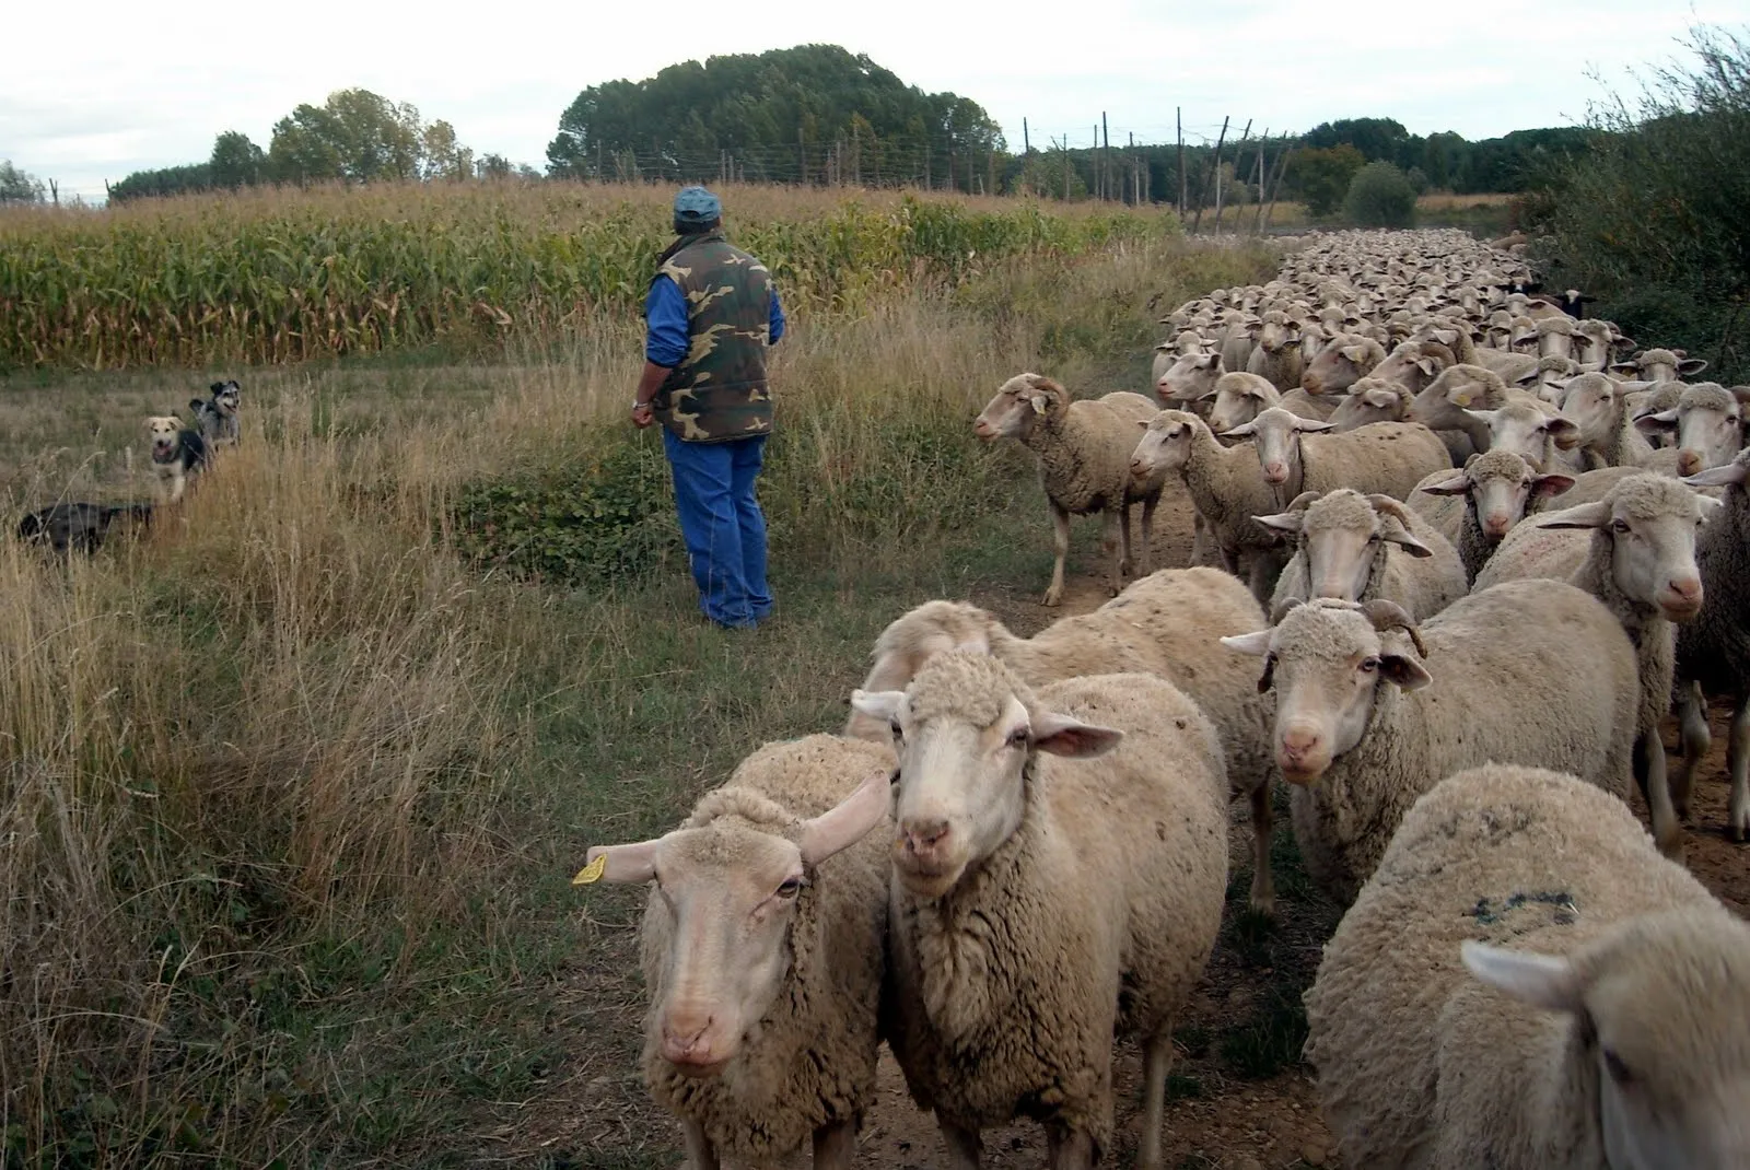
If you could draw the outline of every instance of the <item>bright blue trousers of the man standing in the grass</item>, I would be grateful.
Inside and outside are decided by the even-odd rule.
[[[698,607],[719,626],[752,626],[772,612],[765,579],[765,514],[754,479],[765,435],[728,442],[682,442],[662,432],[674,472],[681,539],[698,584]]]

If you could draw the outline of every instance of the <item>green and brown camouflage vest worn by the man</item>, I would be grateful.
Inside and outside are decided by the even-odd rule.
[[[691,345],[654,399],[656,418],[688,442],[770,434],[765,350],[772,290],[765,264],[710,233],[670,255],[656,280],[665,276],[686,296]]]

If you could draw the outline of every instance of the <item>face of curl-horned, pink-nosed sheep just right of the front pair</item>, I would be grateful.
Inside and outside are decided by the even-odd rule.
[[[1362,742],[1379,687],[1430,682],[1402,642],[1382,638],[1353,602],[1297,605],[1274,630],[1222,638],[1222,645],[1265,659],[1258,689],[1276,691],[1276,766],[1298,785],[1318,782]]]

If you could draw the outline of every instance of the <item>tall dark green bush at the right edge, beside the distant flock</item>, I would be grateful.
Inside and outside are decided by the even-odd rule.
[[[1642,345],[1750,376],[1750,40],[1690,35],[1698,61],[1652,75],[1636,108],[1594,112],[1598,142],[1559,166],[1536,217],[1547,283],[1586,289]]]

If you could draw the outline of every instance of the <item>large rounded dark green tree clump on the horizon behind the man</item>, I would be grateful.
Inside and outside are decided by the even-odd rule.
[[[578,94],[548,145],[572,177],[954,182],[989,175],[1003,135],[985,110],[924,93],[838,45],[714,56]]]

